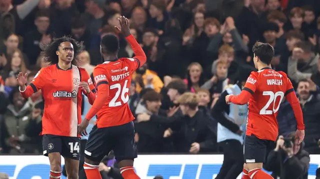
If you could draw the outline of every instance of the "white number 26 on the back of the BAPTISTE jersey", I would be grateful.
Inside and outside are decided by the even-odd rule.
[[[114,97],[109,102],[109,107],[121,106],[122,105],[121,101],[123,102],[123,104],[129,101],[129,96],[128,96],[129,88],[126,87],[127,83],[128,83],[128,80],[125,80],[123,87],[121,86],[120,83],[116,83],[110,86],[110,89],[117,89],[117,90],[115,92]],[[121,95],[121,101],[116,101],[120,95]]]

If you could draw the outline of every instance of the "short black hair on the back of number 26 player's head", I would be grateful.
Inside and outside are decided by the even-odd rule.
[[[115,54],[119,50],[119,39],[115,35],[106,34],[101,38],[101,48],[104,54]]]

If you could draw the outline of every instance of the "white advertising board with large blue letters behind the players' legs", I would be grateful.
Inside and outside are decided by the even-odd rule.
[[[222,161],[222,155],[139,155],[134,168],[141,179],[156,175],[163,179],[214,179]],[[310,155],[308,179],[315,179],[319,165],[320,155]],[[8,174],[9,179],[48,179],[49,170],[44,156],[0,156],[0,173]]]

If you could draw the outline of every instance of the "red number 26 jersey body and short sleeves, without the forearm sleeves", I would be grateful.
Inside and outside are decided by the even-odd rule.
[[[119,126],[134,119],[127,102],[131,76],[139,66],[137,58],[119,58],[115,61],[105,61],[94,68],[96,89],[100,84],[109,85],[108,98],[96,114],[95,124],[98,128]]]

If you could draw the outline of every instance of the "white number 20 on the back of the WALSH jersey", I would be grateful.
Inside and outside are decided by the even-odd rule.
[[[263,96],[269,96],[269,100],[266,102],[265,106],[260,110],[260,115],[270,115],[274,114],[279,110],[280,103],[284,97],[284,93],[282,91],[278,91],[273,93],[272,91],[263,91],[262,93]],[[280,101],[278,104],[276,103],[276,98],[280,97]],[[267,110],[269,106],[273,103],[273,108],[272,110]],[[276,105],[276,108],[274,108]]]

